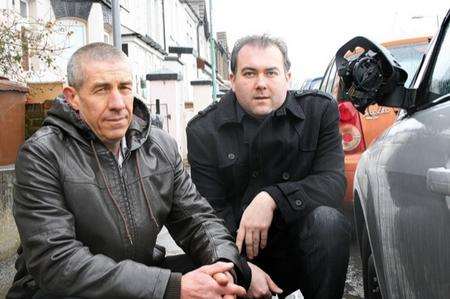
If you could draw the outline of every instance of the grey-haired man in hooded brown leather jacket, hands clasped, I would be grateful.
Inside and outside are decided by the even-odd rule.
[[[68,83],[16,163],[21,248],[8,298],[244,295],[250,269],[175,141],[133,100],[126,56],[87,45],[69,61]],[[191,259],[158,254],[163,225]]]

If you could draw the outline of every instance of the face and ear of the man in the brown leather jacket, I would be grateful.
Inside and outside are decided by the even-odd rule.
[[[83,84],[66,87],[64,95],[106,145],[120,142],[133,115],[132,75],[123,61],[85,61]]]

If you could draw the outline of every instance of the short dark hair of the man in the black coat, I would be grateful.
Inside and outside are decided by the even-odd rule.
[[[269,46],[277,47],[280,50],[281,54],[283,55],[284,71],[288,72],[290,70],[291,61],[289,60],[288,57],[286,43],[283,40],[271,37],[267,34],[248,35],[239,39],[234,44],[233,51],[231,52],[231,61],[230,61],[230,68],[233,74],[236,74],[237,71],[237,56],[239,54],[239,51],[246,45],[258,46],[261,48],[267,48]]]

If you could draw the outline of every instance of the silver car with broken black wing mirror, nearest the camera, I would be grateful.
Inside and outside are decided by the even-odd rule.
[[[355,174],[365,298],[450,298],[449,22],[450,11],[410,85],[389,51],[365,38],[336,54],[343,98],[359,111],[399,109]]]

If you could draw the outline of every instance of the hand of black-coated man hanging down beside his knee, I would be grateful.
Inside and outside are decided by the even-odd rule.
[[[245,240],[247,257],[253,259],[259,253],[259,248],[267,245],[267,234],[272,224],[273,211],[276,204],[269,193],[263,191],[253,198],[250,205],[242,214],[241,223],[236,237],[236,245],[239,252]]]

